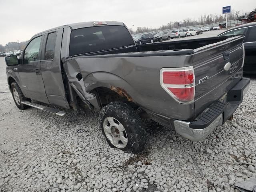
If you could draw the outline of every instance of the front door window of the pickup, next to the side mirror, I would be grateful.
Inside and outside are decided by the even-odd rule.
[[[28,64],[30,61],[39,60],[39,49],[41,44],[42,36],[34,38],[26,47],[24,52],[23,64]]]

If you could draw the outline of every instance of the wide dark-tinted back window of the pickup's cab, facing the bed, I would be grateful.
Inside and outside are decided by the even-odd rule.
[[[70,56],[134,45],[124,26],[96,26],[73,30],[70,36]]]

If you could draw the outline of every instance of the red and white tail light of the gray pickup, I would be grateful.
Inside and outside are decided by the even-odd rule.
[[[193,66],[162,68],[160,70],[160,84],[177,102],[182,104],[194,102],[195,75]]]

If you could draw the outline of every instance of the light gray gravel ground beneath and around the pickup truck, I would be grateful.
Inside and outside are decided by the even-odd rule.
[[[234,119],[201,142],[144,121],[146,151],[139,155],[110,148],[97,113],[19,110],[6,86],[4,58],[0,92],[1,192],[220,192],[256,176],[255,78]]]

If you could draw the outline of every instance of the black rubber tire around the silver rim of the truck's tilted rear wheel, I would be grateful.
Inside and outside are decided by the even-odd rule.
[[[119,148],[117,146],[114,146],[112,142],[110,142],[110,140],[108,139],[109,134],[108,136],[106,136],[104,131],[104,121],[107,118],[114,118],[115,120],[120,122],[124,127],[125,132],[123,132],[123,134],[126,134],[126,138],[127,138],[127,144],[124,148]],[[130,152],[134,154],[137,154],[144,150],[145,139],[146,139],[145,129],[142,127],[142,122],[138,114],[128,104],[117,101],[104,106],[104,108],[102,108],[102,110],[100,111],[100,126],[101,126],[103,135],[105,136],[108,144],[112,148],[118,148],[125,152]],[[111,124],[108,127],[110,126]],[[110,128],[111,130],[112,130],[112,127],[113,126],[111,126]],[[118,145],[119,145],[119,141],[118,141]]]

